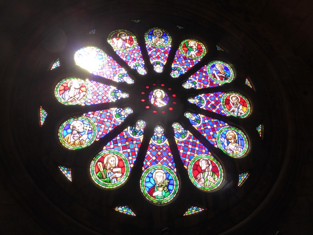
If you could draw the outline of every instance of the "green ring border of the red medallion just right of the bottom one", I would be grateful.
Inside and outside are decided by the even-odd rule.
[[[213,161],[217,165],[218,172],[219,172],[219,177],[218,177],[218,181],[214,185],[211,185],[209,187],[202,186],[194,179],[194,177],[192,175],[192,166],[200,158],[208,158],[208,159],[210,159],[211,161]],[[221,164],[219,164],[219,162],[215,158],[213,158],[211,155],[209,155],[209,154],[199,154],[199,155],[195,156],[190,161],[190,163],[188,165],[188,176],[189,176],[189,179],[191,180],[191,182],[194,185],[196,185],[198,189],[201,189],[201,190],[204,190],[204,191],[211,191],[211,190],[218,189],[221,186],[221,184],[223,183],[223,180],[224,180],[224,172],[222,170]]]

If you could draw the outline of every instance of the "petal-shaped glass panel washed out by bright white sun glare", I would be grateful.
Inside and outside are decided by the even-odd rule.
[[[112,57],[94,46],[83,47],[74,55],[76,65],[90,73],[118,82],[132,84],[134,81]]]

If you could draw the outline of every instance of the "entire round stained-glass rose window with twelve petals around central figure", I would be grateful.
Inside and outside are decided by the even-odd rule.
[[[259,125],[251,121],[254,91],[246,86],[252,87],[249,80],[237,75],[236,63],[216,43],[199,37],[174,40],[170,29],[159,27],[135,32],[104,34],[97,29],[106,46],[86,41],[73,49],[73,70],[58,74],[55,103],[50,104],[68,110],[57,115],[60,147],[71,153],[90,149],[86,167],[91,183],[102,190],[123,187],[137,169],[141,176],[136,187],[153,205],[179,197],[186,182],[180,181],[178,165],[193,189],[208,195],[237,181],[225,180],[233,167],[225,159],[249,159],[249,127],[255,132]],[[49,113],[58,110],[50,106]],[[42,107],[39,112],[42,125],[47,113]],[[261,125],[257,131],[262,136]],[[71,180],[70,168],[60,169]],[[248,175],[241,172],[236,174],[239,185]],[[125,202],[118,205],[125,206],[116,206],[116,211],[135,215]],[[191,206],[184,215],[203,210]]]

